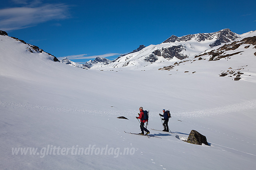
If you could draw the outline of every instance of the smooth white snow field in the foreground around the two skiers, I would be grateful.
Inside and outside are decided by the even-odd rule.
[[[54,62],[8,38],[0,41],[0,169],[255,168],[253,53],[170,71],[100,71]],[[242,79],[219,76],[229,67],[244,68]],[[140,133],[140,106],[150,111],[150,134],[161,139],[124,133]],[[162,109],[170,109],[173,133],[150,129],[163,129]],[[191,130],[210,146],[180,140]]]

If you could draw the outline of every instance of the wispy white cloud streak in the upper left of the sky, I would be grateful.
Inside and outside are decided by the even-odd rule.
[[[26,4],[27,1],[21,1]],[[34,3],[39,1],[34,1]],[[13,7],[0,10],[0,29],[17,30],[35,26],[53,19],[69,17],[68,6],[65,4],[41,4],[39,7]]]

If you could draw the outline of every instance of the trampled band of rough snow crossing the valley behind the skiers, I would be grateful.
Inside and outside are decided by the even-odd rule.
[[[48,111],[56,111],[56,112],[71,112],[75,114],[89,114],[95,115],[101,113],[102,115],[120,115],[120,111],[111,111],[107,109],[98,109],[97,113],[95,110],[90,109],[71,109],[71,108],[60,108],[60,107],[49,107],[49,106],[39,106],[39,105],[31,105],[25,103],[11,103],[6,101],[0,101],[0,107],[22,107],[27,109],[39,109],[39,110],[48,110]],[[210,109],[196,109],[192,111],[185,111],[185,112],[173,112],[171,113],[173,117],[176,118],[196,118],[196,117],[203,117],[203,116],[210,116],[210,115],[218,115],[224,113],[231,113],[237,112],[242,110],[248,109],[255,109],[256,108],[256,100],[245,101],[242,103],[236,103],[232,105],[217,107],[217,108],[210,108]],[[133,116],[137,113],[137,110],[134,111],[125,111],[122,113],[122,116]],[[158,117],[158,113],[153,113],[150,115],[151,117]]]

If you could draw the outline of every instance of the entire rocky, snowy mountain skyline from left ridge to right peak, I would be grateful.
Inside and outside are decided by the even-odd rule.
[[[141,69],[144,67],[152,67],[149,69],[159,69],[160,67],[171,65],[176,61],[178,62],[185,58],[201,55],[201,53],[204,53],[207,50],[211,51],[215,46],[225,45],[226,43],[235,41],[251,32],[253,31],[244,34],[236,34],[227,28],[214,33],[189,34],[182,37],[172,35],[161,44],[149,45],[147,47],[140,45],[139,48],[128,54],[120,55],[114,60],[97,57],[95,60],[90,60],[85,64],[75,63],[68,58],[59,61],[54,55],[44,52],[37,46],[28,44],[15,37],[11,38],[26,44],[26,51],[28,52],[45,53],[46,55],[49,55],[49,58],[52,58],[53,61],[59,61],[74,67],[84,69],[111,69],[123,67],[129,69]],[[8,36],[5,31],[0,31],[0,35]],[[214,55],[216,56],[216,54]]]

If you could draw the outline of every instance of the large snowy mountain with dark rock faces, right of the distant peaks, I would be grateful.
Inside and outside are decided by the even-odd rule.
[[[95,65],[92,68],[130,67],[130,69],[152,69],[157,67],[157,65],[162,66],[164,64],[170,64],[173,61],[189,58],[214,46],[228,43],[249,33],[251,31],[239,35],[227,28],[214,33],[189,34],[182,37],[172,35],[161,44],[150,45],[139,52],[119,57],[115,62],[107,66]]]

